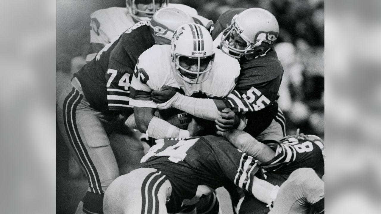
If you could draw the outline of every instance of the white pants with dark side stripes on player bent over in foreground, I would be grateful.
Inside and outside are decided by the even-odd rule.
[[[167,214],[171,183],[153,168],[139,168],[117,177],[107,188],[104,214]]]

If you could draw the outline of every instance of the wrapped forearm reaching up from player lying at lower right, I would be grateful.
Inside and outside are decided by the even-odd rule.
[[[225,131],[222,135],[237,149],[265,163],[275,157],[275,152],[266,144],[257,141],[253,136],[239,129]]]

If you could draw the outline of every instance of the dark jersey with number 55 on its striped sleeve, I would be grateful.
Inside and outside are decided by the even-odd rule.
[[[283,76],[274,48],[266,55],[239,61],[241,66],[237,85],[225,104],[234,112],[246,112],[247,133],[256,137],[266,129],[278,113],[278,92]]]

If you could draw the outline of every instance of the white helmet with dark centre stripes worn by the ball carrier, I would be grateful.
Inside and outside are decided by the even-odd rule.
[[[183,24],[173,34],[171,40],[172,61],[176,66],[176,72],[188,83],[197,84],[207,80],[213,66],[215,53],[213,52],[213,40],[208,30],[199,24]],[[196,65],[197,71],[191,71],[181,66]],[[201,70],[202,68],[203,70]],[[186,73],[186,77],[182,73]]]

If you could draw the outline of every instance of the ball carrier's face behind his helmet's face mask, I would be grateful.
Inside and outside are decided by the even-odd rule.
[[[200,59],[200,72],[203,72],[208,67],[209,62],[210,57]],[[197,73],[199,67],[199,60],[197,58],[180,57],[179,64],[184,69]],[[189,79],[197,78],[196,73],[189,73],[181,69],[180,73]]]

